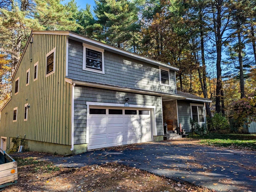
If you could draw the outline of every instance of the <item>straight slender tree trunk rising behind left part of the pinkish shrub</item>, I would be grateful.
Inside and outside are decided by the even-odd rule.
[[[239,21],[238,21],[239,22]],[[240,96],[244,97],[244,78],[243,78],[243,56],[242,56],[242,42],[240,24],[238,24],[238,58],[239,58],[239,70],[240,70]]]

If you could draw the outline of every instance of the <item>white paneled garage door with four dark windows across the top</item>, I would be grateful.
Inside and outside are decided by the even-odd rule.
[[[142,108],[90,106],[88,149],[152,141],[150,113]]]

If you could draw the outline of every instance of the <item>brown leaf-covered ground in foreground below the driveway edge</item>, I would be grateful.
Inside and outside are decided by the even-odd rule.
[[[5,189],[13,191],[205,191],[189,183],[180,183],[118,163],[82,168],[56,167],[37,158],[20,158],[18,183]]]

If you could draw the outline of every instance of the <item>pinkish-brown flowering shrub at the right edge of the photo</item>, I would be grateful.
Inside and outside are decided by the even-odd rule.
[[[252,121],[256,121],[256,92],[248,94],[248,96],[232,103],[235,111],[233,118],[243,124],[247,121],[247,125]]]

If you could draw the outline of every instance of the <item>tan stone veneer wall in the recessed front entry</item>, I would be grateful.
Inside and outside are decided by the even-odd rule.
[[[176,119],[177,118],[177,106],[176,100],[173,101],[163,101],[163,121],[166,123],[167,119]]]

